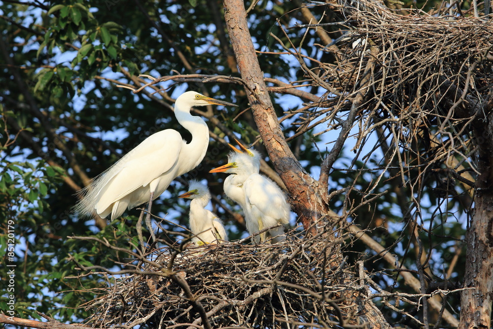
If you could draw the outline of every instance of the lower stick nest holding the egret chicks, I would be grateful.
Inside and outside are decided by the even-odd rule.
[[[156,265],[125,275],[88,306],[88,324],[109,328],[287,328],[286,323],[339,324],[356,292],[347,269],[335,262],[337,247],[324,239],[290,235],[275,245],[224,243],[191,247],[175,260],[171,248],[155,251]],[[168,270],[169,269],[169,270]],[[193,328],[193,327],[190,327]],[[208,326],[204,326],[208,328]]]

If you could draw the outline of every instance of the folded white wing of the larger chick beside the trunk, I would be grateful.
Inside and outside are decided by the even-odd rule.
[[[263,215],[289,222],[289,206],[281,188],[259,174],[252,174],[244,184],[246,203],[255,206]]]

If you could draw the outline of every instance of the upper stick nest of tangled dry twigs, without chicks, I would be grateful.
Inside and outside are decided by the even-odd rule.
[[[362,133],[398,120],[413,136],[423,130],[467,133],[462,128],[471,118],[492,109],[491,20],[465,17],[456,7],[402,15],[378,1],[339,2],[326,5],[340,13],[350,33],[336,62],[312,76],[328,91],[323,107],[350,110],[357,102],[357,114],[368,118]]]

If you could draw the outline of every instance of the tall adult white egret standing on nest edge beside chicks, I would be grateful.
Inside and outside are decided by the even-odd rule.
[[[175,103],[178,122],[192,134],[190,143],[173,129],[157,132],[128,152],[89,186],[75,206],[79,214],[93,213],[115,219],[128,208],[149,202],[145,223],[155,240],[150,223],[152,200],[161,195],[178,176],[195,168],[204,158],[209,145],[209,128],[205,121],[190,114],[190,109],[208,104],[236,106],[194,91],[181,94]],[[141,238],[141,218],[137,223]]]

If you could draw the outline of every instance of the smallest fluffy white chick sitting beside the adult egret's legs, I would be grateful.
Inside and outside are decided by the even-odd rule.
[[[228,241],[228,235],[217,216],[205,207],[211,201],[211,193],[204,184],[190,181],[189,191],[178,195],[178,198],[192,199],[190,202],[190,230],[195,235],[192,242],[203,244]]]

